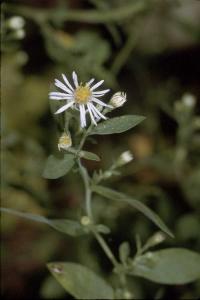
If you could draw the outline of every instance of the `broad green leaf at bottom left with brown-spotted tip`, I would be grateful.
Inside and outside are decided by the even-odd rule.
[[[76,299],[114,298],[112,287],[85,266],[52,262],[47,267],[64,289]]]

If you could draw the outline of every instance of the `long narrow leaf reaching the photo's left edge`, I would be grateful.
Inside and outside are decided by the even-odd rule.
[[[67,219],[47,219],[40,215],[23,213],[23,212],[14,210],[14,209],[3,208],[3,207],[0,208],[0,211],[10,213],[15,216],[26,218],[26,219],[29,219],[32,221],[47,224],[47,225],[53,227],[54,229],[56,229],[62,233],[71,235],[71,236],[79,236],[79,235],[85,234],[85,231],[84,231],[83,227],[81,226],[81,224],[76,221],[67,220]]]

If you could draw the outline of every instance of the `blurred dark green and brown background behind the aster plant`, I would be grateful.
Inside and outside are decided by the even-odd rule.
[[[14,16],[21,21],[13,22]],[[20,23],[21,22],[21,23]],[[14,25],[13,25],[14,24]],[[79,218],[82,185],[76,173],[45,180],[46,157],[57,152],[61,124],[48,93],[54,78],[105,79],[128,101],[112,115],[141,114],[146,120],[126,134],[101,136],[88,149],[106,168],[130,149],[134,160],[112,187],[156,211],[175,233],[164,247],[200,249],[200,2],[196,0],[24,0],[2,5],[2,201],[4,207],[56,218]],[[112,96],[110,93],[110,96]],[[109,97],[108,99],[109,100]],[[135,235],[156,230],[139,212],[107,200],[93,203],[112,234],[117,254]],[[74,261],[111,276],[111,265],[91,237],[69,238],[49,227],[2,214],[2,294],[5,298],[66,295],[45,264]],[[200,282],[162,286],[130,278],[138,299],[197,299]]]

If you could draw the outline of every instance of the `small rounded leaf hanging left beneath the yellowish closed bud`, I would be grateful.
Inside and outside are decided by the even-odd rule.
[[[62,159],[50,155],[47,159],[43,177],[47,179],[56,179],[67,174],[74,165],[74,155],[65,154]]]

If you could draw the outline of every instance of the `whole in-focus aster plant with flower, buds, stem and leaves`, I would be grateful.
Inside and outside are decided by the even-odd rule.
[[[112,111],[128,101],[125,93],[117,92],[106,101],[104,97],[109,89],[97,90],[103,84],[103,80],[95,82],[91,79],[82,83],[75,72],[72,73],[72,79],[73,83],[63,74],[62,81],[55,80],[55,86],[59,90],[49,94],[53,114],[59,124],[62,124],[62,133],[57,142],[59,156],[48,157],[43,176],[52,180],[70,172],[78,172],[85,190],[82,198],[84,202],[82,215],[79,219],[69,220],[49,219],[8,208],[1,208],[1,211],[45,223],[72,237],[92,235],[97,240],[112,264],[115,282],[107,277],[103,279],[79,262],[47,264],[54,278],[76,299],[135,299],[134,291],[128,283],[129,276],[143,277],[159,284],[176,285],[198,279],[200,255],[184,248],[152,251],[151,249],[164,242],[167,236],[173,238],[173,233],[144,203],[105,186],[107,179],[117,176],[119,169],[133,160],[133,154],[124,149],[125,151],[116,157],[107,170],[95,170],[93,174],[89,174],[82,161],[83,159],[100,161],[97,154],[85,150],[85,145],[91,137],[123,133],[141,123],[145,117],[139,115],[112,117]],[[99,224],[95,219],[93,199],[96,196],[99,201],[101,198],[113,201],[113,206],[115,202],[129,205],[154,223],[159,231],[144,244],[137,235],[134,254],[130,244],[127,241],[122,242],[116,255],[105,238],[111,232],[108,224]]]

